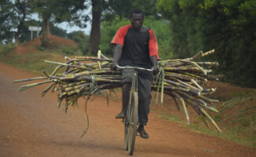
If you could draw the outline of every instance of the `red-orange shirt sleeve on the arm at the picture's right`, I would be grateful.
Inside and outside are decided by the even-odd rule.
[[[149,48],[149,56],[156,56],[157,59],[159,60],[159,56],[158,56],[158,44],[157,44],[157,40],[155,37],[155,32],[150,29],[149,30],[150,33],[150,38],[149,38],[149,42],[148,42],[148,48]]]

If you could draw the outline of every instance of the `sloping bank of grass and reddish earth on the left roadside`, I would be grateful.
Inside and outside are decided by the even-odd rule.
[[[24,53],[23,55],[16,55],[16,51],[14,51],[15,48],[16,46],[11,43],[0,45],[0,62],[10,64],[13,67],[25,71],[31,71],[36,75],[42,75],[42,70],[54,70],[54,67],[50,64],[46,64],[44,60],[62,61],[64,60],[64,56],[73,57],[82,55],[76,46],[64,46],[60,43],[58,45],[55,44],[53,49],[44,49],[38,46],[32,49],[31,52]]]

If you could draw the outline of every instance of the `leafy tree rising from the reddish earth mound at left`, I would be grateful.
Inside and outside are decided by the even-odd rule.
[[[86,9],[85,0],[31,0],[35,13],[43,21],[42,46],[49,46],[47,35],[50,35],[49,20],[54,23],[68,22],[79,27],[86,27],[87,15],[82,15],[82,10]]]

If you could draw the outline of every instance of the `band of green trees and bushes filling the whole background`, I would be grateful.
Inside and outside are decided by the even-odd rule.
[[[65,4],[55,7],[62,3]],[[144,26],[152,27],[155,31],[161,58],[185,58],[199,50],[206,52],[215,49],[214,56],[205,60],[219,62],[216,73],[225,75],[225,81],[256,87],[256,34],[253,33],[256,27],[255,0],[150,0],[147,3],[142,0],[79,0],[68,3],[64,0],[5,0],[0,3],[0,41],[12,42],[14,36],[16,41],[27,40],[31,13],[38,13],[42,17],[43,24],[39,25],[44,27],[43,32],[52,27],[48,27],[49,17],[53,17],[53,24],[68,21],[85,27],[84,22],[89,17],[82,16],[79,11],[90,5],[93,5],[95,16],[92,24],[95,27],[93,25],[89,39],[86,35],[83,35],[85,38],[76,38],[82,43],[79,47],[84,54],[95,54],[97,49],[101,49],[112,56],[114,48],[109,42],[119,27],[130,24],[127,20],[130,11],[138,7],[143,9],[146,17]],[[16,27],[18,29],[14,31]],[[68,36],[64,32],[53,35]],[[42,36],[42,46],[48,45],[46,37]]]

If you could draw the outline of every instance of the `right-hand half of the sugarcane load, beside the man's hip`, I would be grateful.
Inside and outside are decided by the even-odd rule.
[[[159,61],[158,65],[160,68],[160,73],[155,81],[155,84],[152,85],[152,90],[157,91],[157,99],[159,90],[161,89],[161,103],[163,103],[163,93],[173,97],[178,111],[180,111],[180,106],[177,103],[176,98],[181,100],[188,124],[189,117],[186,104],[192,106],[207,127],[207,119],[209,119],[210,122],[214,124],[216,129],[221,132],[218,125],[214,122],[214,119],[212,119],[210,115],[207,114],[207,111],[203,109],[207,108],[210,111],[218,112],[218,110],[213,107],[213,103],[218,103],[219,101],[205,97],[207,94],[214,93],[216,88],[204,88],[207,80],[218,80],[217,77],[213,75],[207,75],[207,73],[212,71],[210,68],[218,66],[218,62],[194,61],[211,53],[214,53],[214,49],[207,53],[200,51],[195,57],[183,60],[177,59]]]

